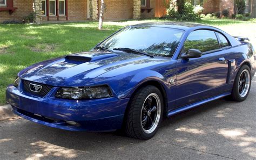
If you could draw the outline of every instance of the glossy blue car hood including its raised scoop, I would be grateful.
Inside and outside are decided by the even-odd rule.
[[[124,52],[83,52],[34,64],[19,72],[18,75],[27,81],[52,86],[84,86],[93,78],[120,67],[123,67],[123,70],[130,70],[129,66],[134,64],[135,70],[151,66],[149,63],[160,63],[163,60],[166,61],[163,58],[159,60]]]

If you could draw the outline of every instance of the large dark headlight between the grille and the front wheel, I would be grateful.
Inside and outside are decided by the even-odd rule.
[[[84,88],[60,88],[55,94],[57,98],[66,99],[96,99],[112,97],[109,86],[91,86]]]

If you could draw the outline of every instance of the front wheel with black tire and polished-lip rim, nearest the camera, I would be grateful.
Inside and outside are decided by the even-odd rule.
[[[148,85],[138,90],[128,107],[125,134],[136,139],[151,139],[157,133],[164,113],[164,100],[159,89]]]

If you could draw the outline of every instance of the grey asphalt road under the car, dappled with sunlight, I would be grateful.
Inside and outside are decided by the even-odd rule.
[[[12,118],[0,121],[0,159],[256,159],[255,97],[256,78],[246,101],[220,99],[178,114],[147,141]]]

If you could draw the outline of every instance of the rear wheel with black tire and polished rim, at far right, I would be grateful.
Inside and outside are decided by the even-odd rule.
[[[242,66],[235,77],[231,94],[232,99],[235,101],[244,101],[250,93],[251,81],[250,68],[247,65]]]

